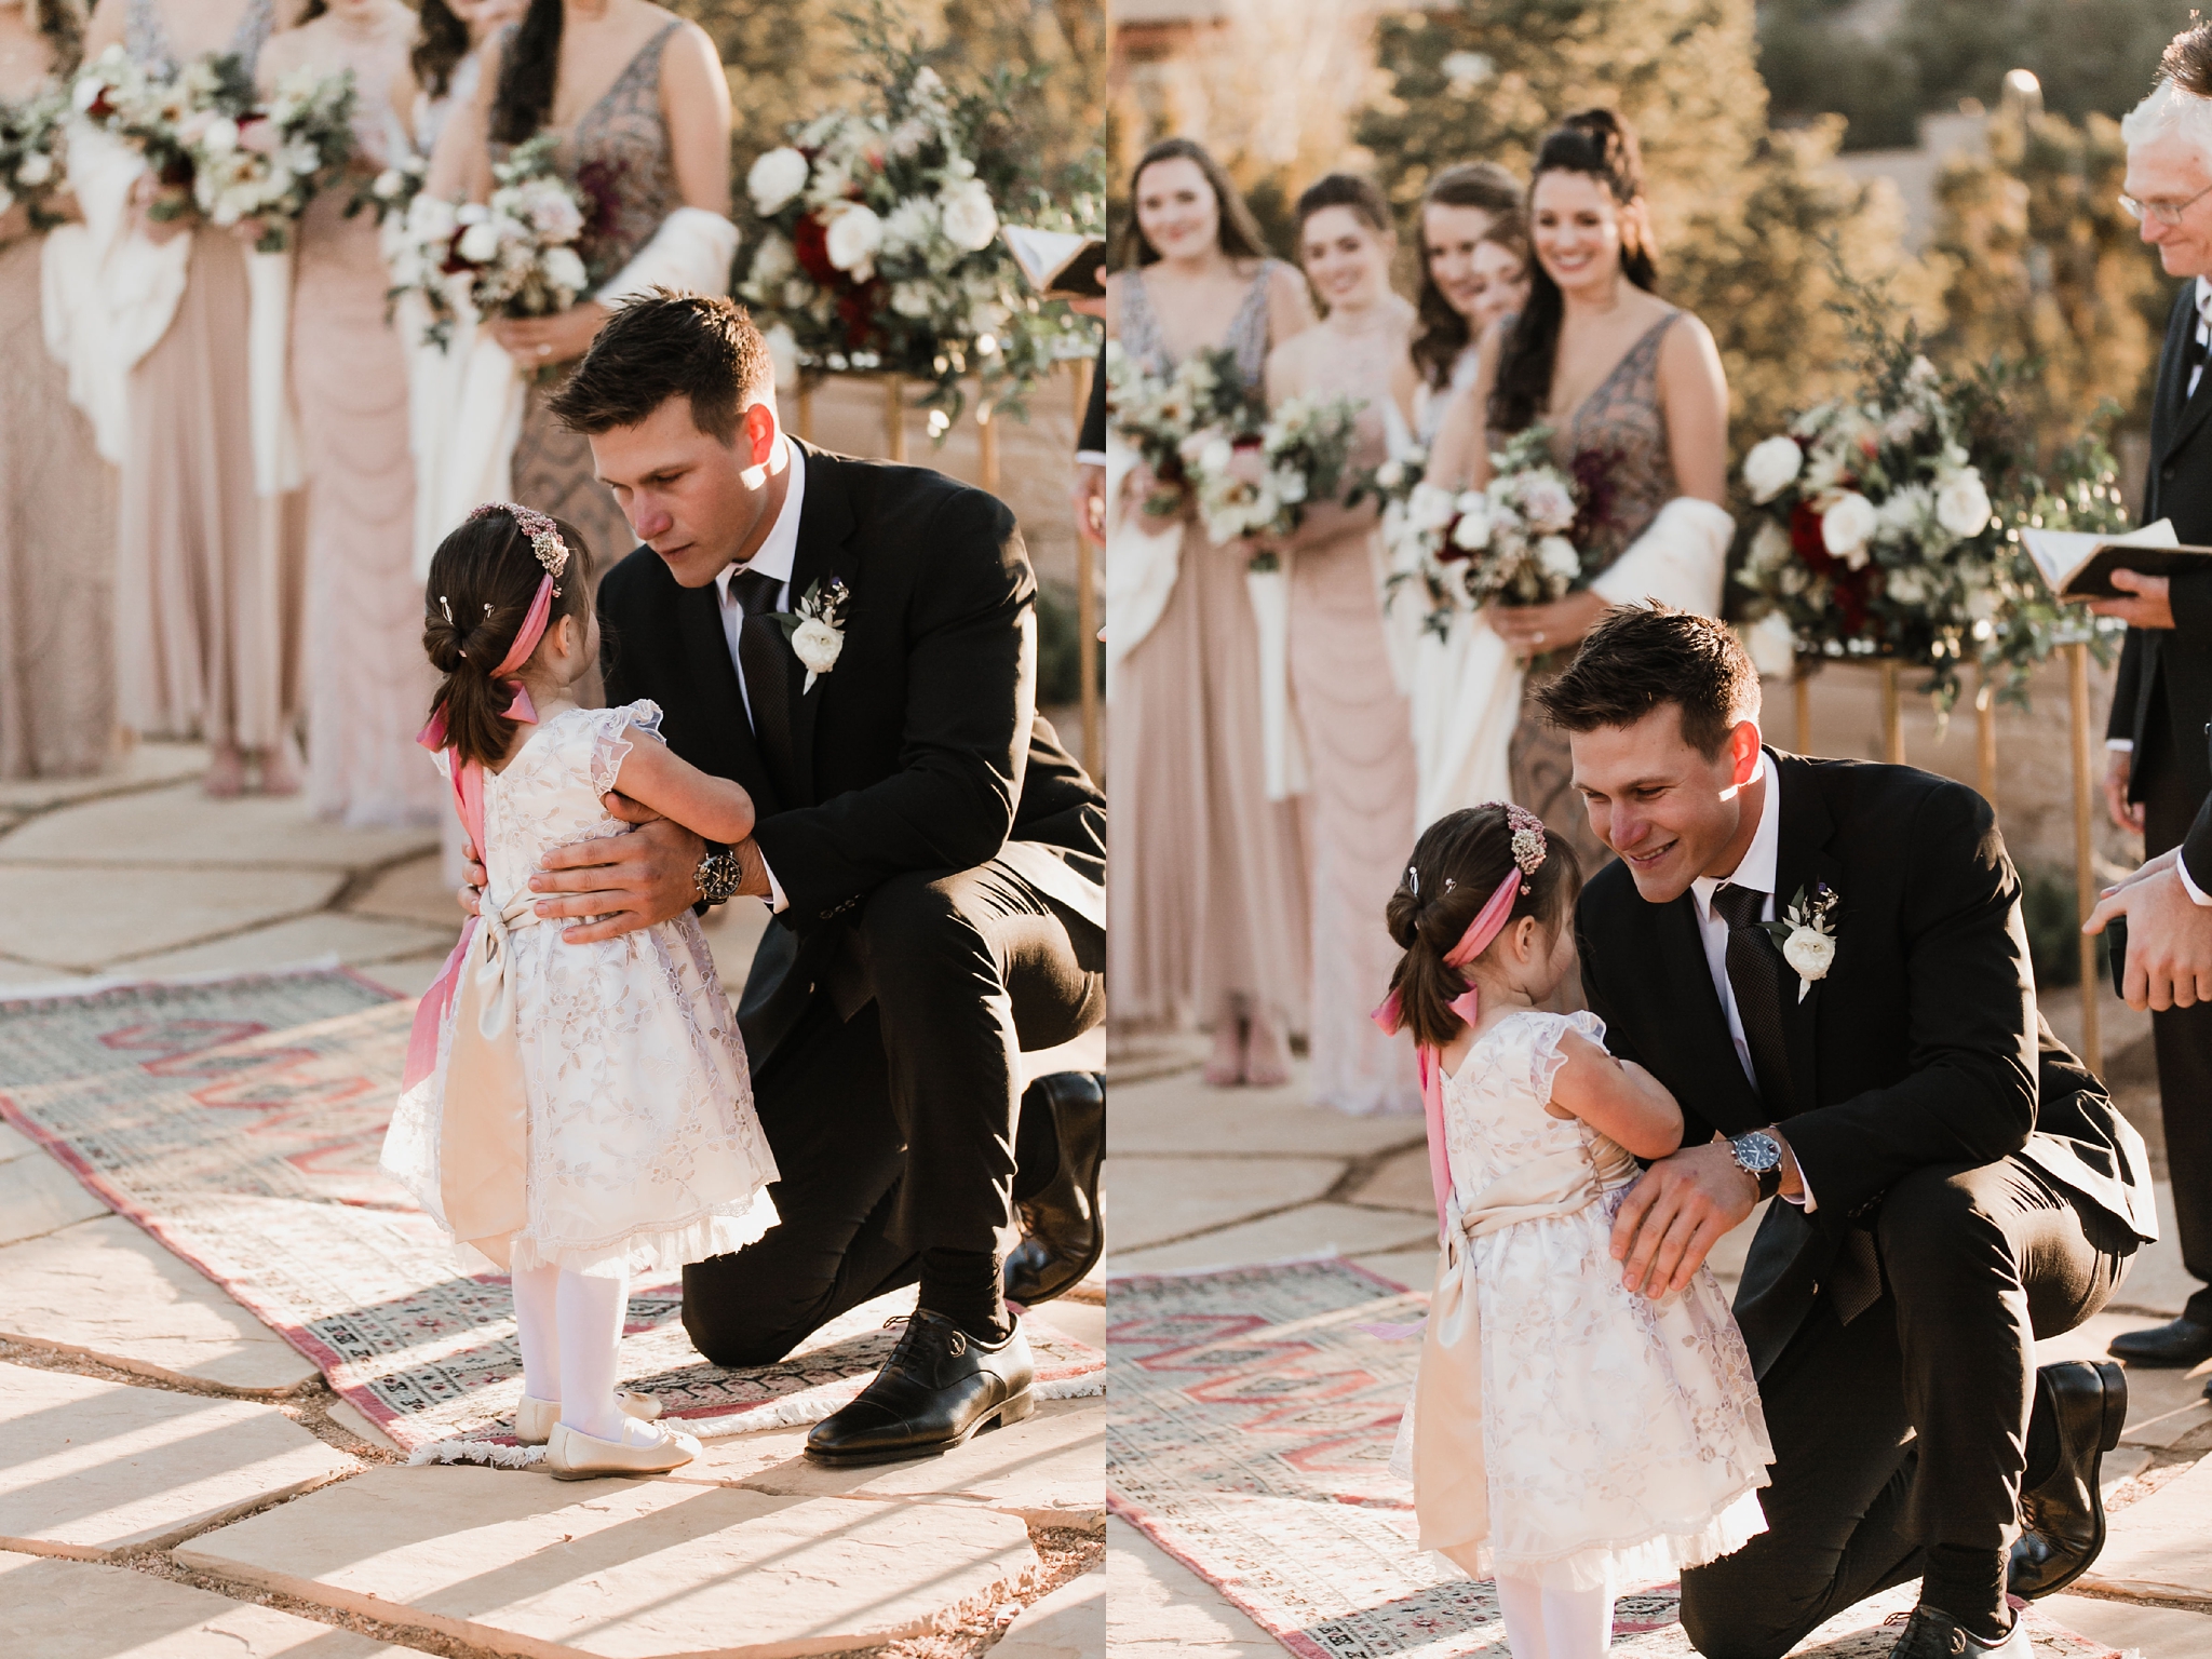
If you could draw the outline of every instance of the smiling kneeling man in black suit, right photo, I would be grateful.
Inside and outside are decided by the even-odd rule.
[[[1763,748],[1759,672],[1708,617],[1613,611],[1537,697],[1619,854],[1575,914],[1590,1009],[1683,1110],[1621,1201],[1626,1283],[1679,1290],[1781,1199],[1736,1292],[1767,1533],[1683,1573],[1683,1628],[1774,1659],[1920,1577],[1900,1659],[2026,1659],[2008,1548],[2020,1595],[2088,1566],[2128,1405],[2117,1365],[2037,1369],[2035,1338],[2157,1221],[2141,1137],[2035,1011],[1989,803]]]

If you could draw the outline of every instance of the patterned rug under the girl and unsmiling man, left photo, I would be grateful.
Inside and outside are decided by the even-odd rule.
[[[376,1168],[411,1002],[343,971],[0,1002],[0,1117],[312,1358],[405,1449],[511,1440],[522,1394],[502,1276],[465,1276]],[[628,1387],[695,1433],[816,1422],[858,1394],[914,1292],[726,1371],[675,1285],[630,1296]],[[1097,1394],[1102,1356],[1031,1327],[1046,1394]]]

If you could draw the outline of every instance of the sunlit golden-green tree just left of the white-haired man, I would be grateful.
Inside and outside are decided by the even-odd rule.
[[[2126,166],[2119,124],[2104,115],[2079,126],[2000,117],[1989,155],[1955,159],[1938,181],[1936,345],[2028,367],[2013,400],[2046,453],[2106,398],[2132,425],[2148,420],[2172,283],[2119,208]]]

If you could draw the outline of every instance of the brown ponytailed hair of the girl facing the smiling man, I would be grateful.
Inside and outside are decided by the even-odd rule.
[[[1398,876],[1398,891],[1383,914],[1389,936],[1405,949],[1389,989],[1398,993],[1400,1022],[1413,1033],[1413,1042],[1442,1048],[1460,1035],[1464,1022],[1451,1011],[1451,1002],[1467,989],[1467,971],[1447,967],[1444,958],[1513,867],[1513,825],[1498,801],[1447,812],[1413,843],[1413,863]],[[1566,927],[1579,891],[1582,863],[1575,849],[1564,836],[1546,834],[1544,863],[1522,878],[1506,927],[1535,916],[1542,927],[1557,931]]]

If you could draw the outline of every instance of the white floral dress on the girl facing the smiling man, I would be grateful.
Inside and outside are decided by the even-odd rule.
[[[1513,1013],[1444,1077],[1444,1144],[1467,1203],[1509,1170],[1619,1150],[1551,1117],[1562,1037],[1604,1042],[1595,1013]],[[1484,1564],[1555,1588],[1657,1584],[1765,1531],[1759,1385],[1708,1270],[1661,1301],[1621,1287],[1608,1248],[1626,1183],[1564,1217],[1469,1241],[1482,1318]]]

